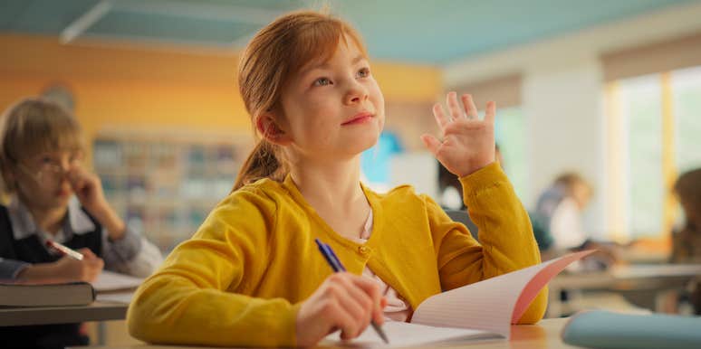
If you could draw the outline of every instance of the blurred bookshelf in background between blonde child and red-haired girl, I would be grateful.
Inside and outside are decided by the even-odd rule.
[[[187,240],[231,192],[250,142],[178,134],[103,134],[93,143],[105,196],[161,250]]]

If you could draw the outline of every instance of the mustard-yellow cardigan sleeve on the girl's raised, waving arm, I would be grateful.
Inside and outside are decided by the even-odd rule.
[[[479,228],[479,242],[436,203],[428,205],[442,288],[459,288],[540,263],[528,213],[501,166],[487,165],[460,182],[470,218]],[[537,322],[546,306],[547,288],[533,300],[519,323]]]

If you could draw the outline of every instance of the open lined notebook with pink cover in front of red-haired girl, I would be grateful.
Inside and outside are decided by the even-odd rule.
[[[384,344],[371,327],[348,342],[342,342],[338,332],[331,334],[323,344],[389,347],[509,339],[511,324],[523,316],[538,292],[571,262],[591,252],[571,253],[428,297],[414,312],[411,324],[388,321],[382,325],[389,344]]]

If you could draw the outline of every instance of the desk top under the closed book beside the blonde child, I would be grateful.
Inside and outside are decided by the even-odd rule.
[[[128,303],[101,300],[81,307],[5,307],[0,308],[0,326],[123,320],[128,307]]]

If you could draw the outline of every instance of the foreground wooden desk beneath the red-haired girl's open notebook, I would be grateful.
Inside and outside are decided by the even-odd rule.
[[[560,332],[562,327],[567,323],[567,318],[553,318],[542,320],[538,325],[512,325],[511,340],[495,340],[495,341],[476,341],[473,343],[464,344],[438,344],[441,348],[485,348],[485,349],[545,349],[545,348],[578,348],[576,346],[562,343]],[[426,345],[416,348],[435,348],[438,346]],[[110,346],[80,346],[74,349],[110,349]],[[120,349],[187,349],[187,348],[203,348],[201,346],[182,346],[182,345],[149,345],[136,344],[128,346],[120,346]]]

